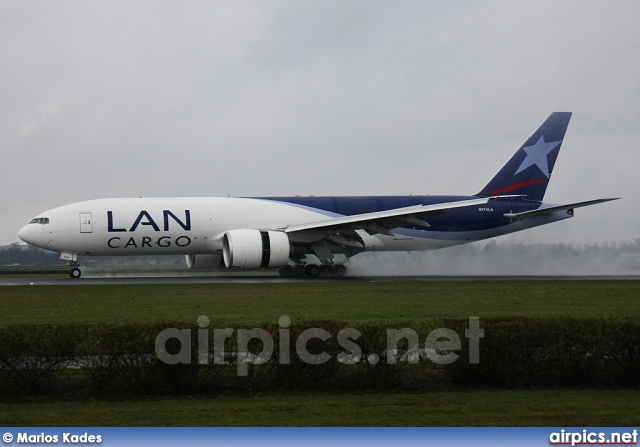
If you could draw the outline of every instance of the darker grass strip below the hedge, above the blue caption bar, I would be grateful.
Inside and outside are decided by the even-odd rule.
[[[638,426],[640,391],[482,390],[0,404],[3,426]]]

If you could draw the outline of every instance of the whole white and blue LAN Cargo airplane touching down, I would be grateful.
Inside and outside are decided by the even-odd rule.
[[[54,208],[18,233],[78,256],[184,254],[193,269],[278,268],[283,276],[346,273],[364,251],[448,247],[545,225],[575,208],[543,197],[571,113],[555,112],[472,196],[187,197],[99,199]]]

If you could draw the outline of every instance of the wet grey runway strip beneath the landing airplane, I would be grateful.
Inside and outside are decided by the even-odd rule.
[[[282,278],[280,276],[111,276],[71,278],[0,278],[0,286],[79,286],[108,284],[277,284],[299,282],[400,282],[400,281],[558,281],[640,280],[621,276],[348,276],[343,278]]]

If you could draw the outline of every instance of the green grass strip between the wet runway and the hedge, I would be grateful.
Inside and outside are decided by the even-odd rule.
[[[0,325],[640,316],[638,296],[640,281],[616,280],[13,286],[0,289]]]

